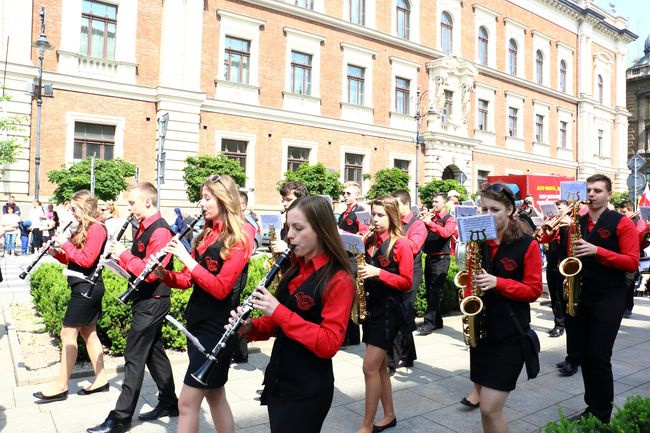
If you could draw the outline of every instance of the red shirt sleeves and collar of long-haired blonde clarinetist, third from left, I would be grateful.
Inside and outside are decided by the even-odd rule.
[[[221,221],[217,221],[210,233],[201,239],[201,242],[192,251],[192,257],[196,259],[203,254],[210,245],[221,238],[222,233],[223,225]],[[198,264],[192,269],[192,272],[187,267],[180,272],[167,272],[163,281],[170,287],[182,290],[189,289],[196,283],[218,300],[226,299],[250,259],[251,253],[247,244],[247,241],[238,242],[230,249],[230,254],[224,260],[217,275]]]

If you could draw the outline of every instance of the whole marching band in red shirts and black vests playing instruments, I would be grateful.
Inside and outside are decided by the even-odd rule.
[[[172,237],[151,183],[129,189],[131,214],[117,239],[107,234],[97,199],[88,191],[75,193],[71,209],[76,231],[71,236],[55,235],[44,250],[67,264],[72,297],[61,331],[61,373],[54,384],[34,394],[38,402],[67,398],[79,334],[96,374],[79,394],[108,390],[95,322],[104,295],[101,270],[112,256],[110,260],[130,277],[129,290],[120,297],[132,314],[124,381],[114,410],[89,433],[130,429],[145,366],[156,383],[158,403],[141,413],[140,420],[180,415],[179,432],[198,432],[205,399],[216,430],[234,433],[224,385],[234,346],[239,344],[231,337],[237,335],[249,341],[275,337],[261,392],[271,432],[320,432],[334,395],[332,358],[342,346],[359,341],[350,327],[357,326],[358,321],[351,319],[358,314],[351,312],[358,312],[360,295],[365,409],[357,433],[389,429],[398,418],[391,376],[398,367],[412,367],[416,359],[412,332],[422,277],[427,308],[419,330],[424,336],[443,326],[443,287],[456,253],[459,267],[465,269],[456,285],[473,383],[472,393],[461,403],[480,409],[485,432],[507,432],[503,408],[509,393],[524,366],[529,378],[539,371],[539,340],[530,328],[530,303],[542,293],[543,250],[554,318],[549,335],[566,333],[567,357],[557,367],[564,376],[575,374],[579,366],[582,370],[586,408],[576,418],[594,415],[609,422],[612,347],[622,318],[632,311],[640,246],[650,243],[649,225],[633,213],[631,203],[624,202],[619,212],[607,208],[609,178],[589,177],[584,202],[558,200],[559,212],[534,227],[531,215],[537,210],[532,202],[520,206],[507,184],[486,183],[478,194],[478,213],[493,217],[495,235],[489,239],[472,235],[467,244],[456,244],[464,220],[449,212],[446,194],[435,194],[426,203],[431,210],[425,207],[419,213],[411,208],[405,190],[378,197],[369,203],[367,224],[357,203],[359,185],[346,183],[344,189],[346,209],[336,221],[331,202],[322,196],[308,195],[300,182],[282,186],[286,223],[280,239],[270,246],[277,263],[243,303],[240,295],[256,226],[244,218],[239,188],[230,176],[213,175],[203,183],[201,212],[185,229],[191,232],[199,220],[205,223],[189,251],[182,243],[188,233]],[[117,240],[131,219],[139,227],[129,251]],[[346,251],[343,232],[361,235],[365,251]],[[181,271],[173,271],[172,258],[184,265]],[[277,288],[270,290],[274,277]],[[187,329],[170,319],[190,342],[178,398],[161,340],[172,288],[193,289],[185,311]],[[250,319],[253,309],[263,317]],[[383,411],[377,417],[380,402]]]

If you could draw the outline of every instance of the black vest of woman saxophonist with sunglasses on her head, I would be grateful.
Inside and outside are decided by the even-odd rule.
[[[484,243],[481,248],[483,250],[481,253],[483,268],[496,277],[521,281],[524,277],[524,257],[532,241],[531,236],[523,235],[511,244],[501,244],[492,260],[489,259],[487,243]],[[528,330],[530,327],[530,304],[528,302],[508,299],[493,289],[483,294],[483,304],[488,341],[519,341],[521,339],[521,334],[513,323],[506,305],[510,306],[524,330]]]

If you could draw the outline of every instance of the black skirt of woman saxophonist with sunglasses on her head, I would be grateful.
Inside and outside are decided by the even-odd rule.
[[[521,342],[479,343],[469,350],[469,366],[472,382],[498,391],[512,391],[524,366]]]

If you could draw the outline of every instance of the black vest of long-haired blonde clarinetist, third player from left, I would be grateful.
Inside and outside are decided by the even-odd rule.
[[[219,256],[222,247],[223,242],[219,239],[196,258],[197,263],[207,269],[212,275],[218,275],[223,266],[224,260]],[[221,301],[212,296],[198,283],[194,283],[192,295],[189,301],[187,301],[187,307],[185,308],[185,318],[187,319],[188,326],[205,321],[213,322],[215,326],[227,323],[230,310],[234,310],[239,305],[239,295],[246,285],[247,279],[248,264],[246,264],[242,273],[237,277],[230,296]]]

